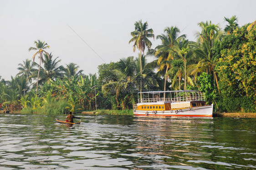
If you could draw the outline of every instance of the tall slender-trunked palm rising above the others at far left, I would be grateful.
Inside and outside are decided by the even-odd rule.
[[[40,68],[41,68],[41,61],[43,61],[42,54],[45,53],[49,57],[49,54],[45,51],[45,49],[49,49],[50,46],[47,43],[45,43],[44,41],[40,41],[40,40],[35,41],[34,44],[36,44],[36,47],[31,47],[28,49],[28,51],[31,51],[31,50],[37,51],[32,57],[33,62],[35,62],[36,55],[39,54],[39,69],[38,69],[37,80],[36,80],[36,95],[37,95],[38,78],[39,78],[39,73],[40,73]]]

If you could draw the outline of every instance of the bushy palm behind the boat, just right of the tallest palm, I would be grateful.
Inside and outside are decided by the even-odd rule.
[[[165,69],[164,73],[164,91],[166,90],[166,80],[169,68],[171,67],[171,61],[174,60],[174,46],[179,46],[179,42],[186,37],[185,34],[179,35],[179,28],[168,27],[164,29],[165,34],[158,35],[156,38],[161,39],[162,44],[158,45],[155,49],[155,56],[158,58],[158,65],[160,70]],[[164,93],[165,94],[165,93]]]

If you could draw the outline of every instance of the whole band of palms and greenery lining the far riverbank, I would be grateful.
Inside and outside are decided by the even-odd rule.
[[[256,21],[240,27],[236,16],[224,19],[223,30],[211,21],[200,22],[195,42],[176,26],[154,35],[148,23],[139,20],[127,40],[134,43],[133,51],[139,50],[138,57],[101,64],[97,74],[89,75],[76,63],[60,65],[50,46],[37,40],[28,47],[36,51],[33,61],[21,62],[10,81],[0,79],[0,107],[22,107],[29,113],[126,113],[136,104],[138,92],[199,90],[214,103],[215,112],[256,112]],[[161,43],[153,48],[155,38]],[[148,62],[150,57],[154,60]]]

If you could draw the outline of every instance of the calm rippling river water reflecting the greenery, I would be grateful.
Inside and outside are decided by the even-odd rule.
[[[0,170],[256,169],[256,119],[77,116],[1,115]]]

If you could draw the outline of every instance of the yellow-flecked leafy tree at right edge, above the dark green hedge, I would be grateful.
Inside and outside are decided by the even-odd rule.
[[[216,69],[225,96],[246,95],[256,99],[256,29],[248,34],[246,28],[243,26],[223,38]]]

